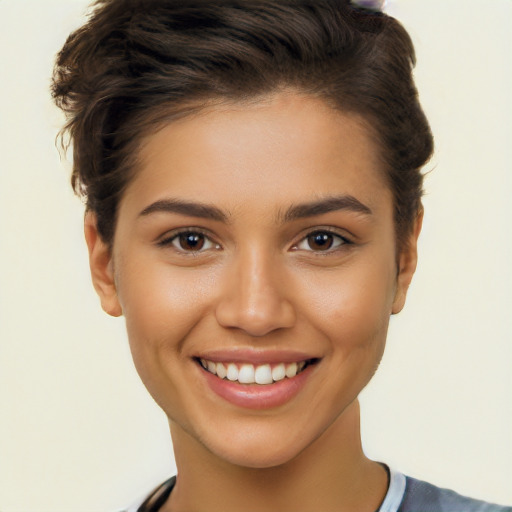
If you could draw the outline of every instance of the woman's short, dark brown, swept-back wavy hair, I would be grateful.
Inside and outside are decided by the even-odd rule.
[[[98,0],[60,51],[52,92],[68,116],[72,185],[108,243],[137,144],[157,122],[291,87],[367,120],[400,248],[433,149],[414,64],[398,21],[347,0]]]

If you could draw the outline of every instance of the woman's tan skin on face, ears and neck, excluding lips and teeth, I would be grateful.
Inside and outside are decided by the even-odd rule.
[[[139,156],[112,250],[93,213],[85,233],[102,307],[125,316],[136,368],[169,418],[179,478],[163,510],[374,512],[387,475],[361,449],[357,396],[404,305],[421,217],[397,255],[365,123],[283,92],[170,123]],[[347,196],[368,211],[283,214]],[[151,208],[170,198],[222,215]],[[182,228],[206,236],[200,251],[180,245]],[[311,243],[319,231],[331,248]],[[219,348],[319,362],[290,401],[251,410],[205,386],[194,357]]]

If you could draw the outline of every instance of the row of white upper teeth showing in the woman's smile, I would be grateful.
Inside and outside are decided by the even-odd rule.
[[[200,359],[201,366],[217,375],[220,379],[228,379],[232,382],[238,381],[240,384],[260,384],[267,385],[278,382],[284,378],[292,379],[306,367],[306,361],[300,363],[280,363],[274,367],[270,364],[254,366],[252,364],[242,364],[240,368],[235,363],[214,363],[206,359]]]

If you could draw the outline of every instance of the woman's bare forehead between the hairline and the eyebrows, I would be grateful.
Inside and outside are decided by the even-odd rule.
[[[391,194],[364,119],[293,93],[217,104],[143,139],[121,202],[167,196],[262,211],[336,194],[381,208]]]

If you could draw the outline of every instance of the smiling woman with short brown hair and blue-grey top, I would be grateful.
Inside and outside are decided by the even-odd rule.
[[[178,467],[134,510],[510,510],[361,448],[432,152],[413,63],[395,20],[331,0],[99,1],[68,39],[93,283]]]

